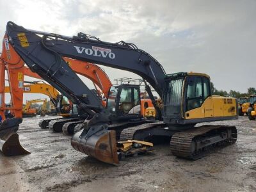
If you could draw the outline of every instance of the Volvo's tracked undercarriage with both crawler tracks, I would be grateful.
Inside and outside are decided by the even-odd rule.
[[[186,159],[200,159],[218,147],[236,143],[234,126],[203,125],[186,131],[172,131],[163,122],[129,127],[120,134],[120,140],[150,140],[150,136],[170,136],[172,154]]]

